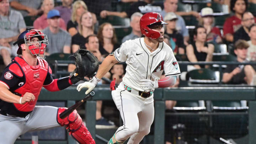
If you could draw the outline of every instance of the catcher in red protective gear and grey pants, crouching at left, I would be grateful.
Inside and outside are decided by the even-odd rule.
[[[26,30],[18,36],[17,54],[0,78],[0,144],[13,144],[28,131],[65,126],[81,144],[95,144],[77,111],[61,119],[66,108],[35,106],[42,86],[59,91],[75,84],[84,76],[52,78],[52,70],[44,60],[47,36],[39,30]],[[77,79],[79,78],[79,79]]]

